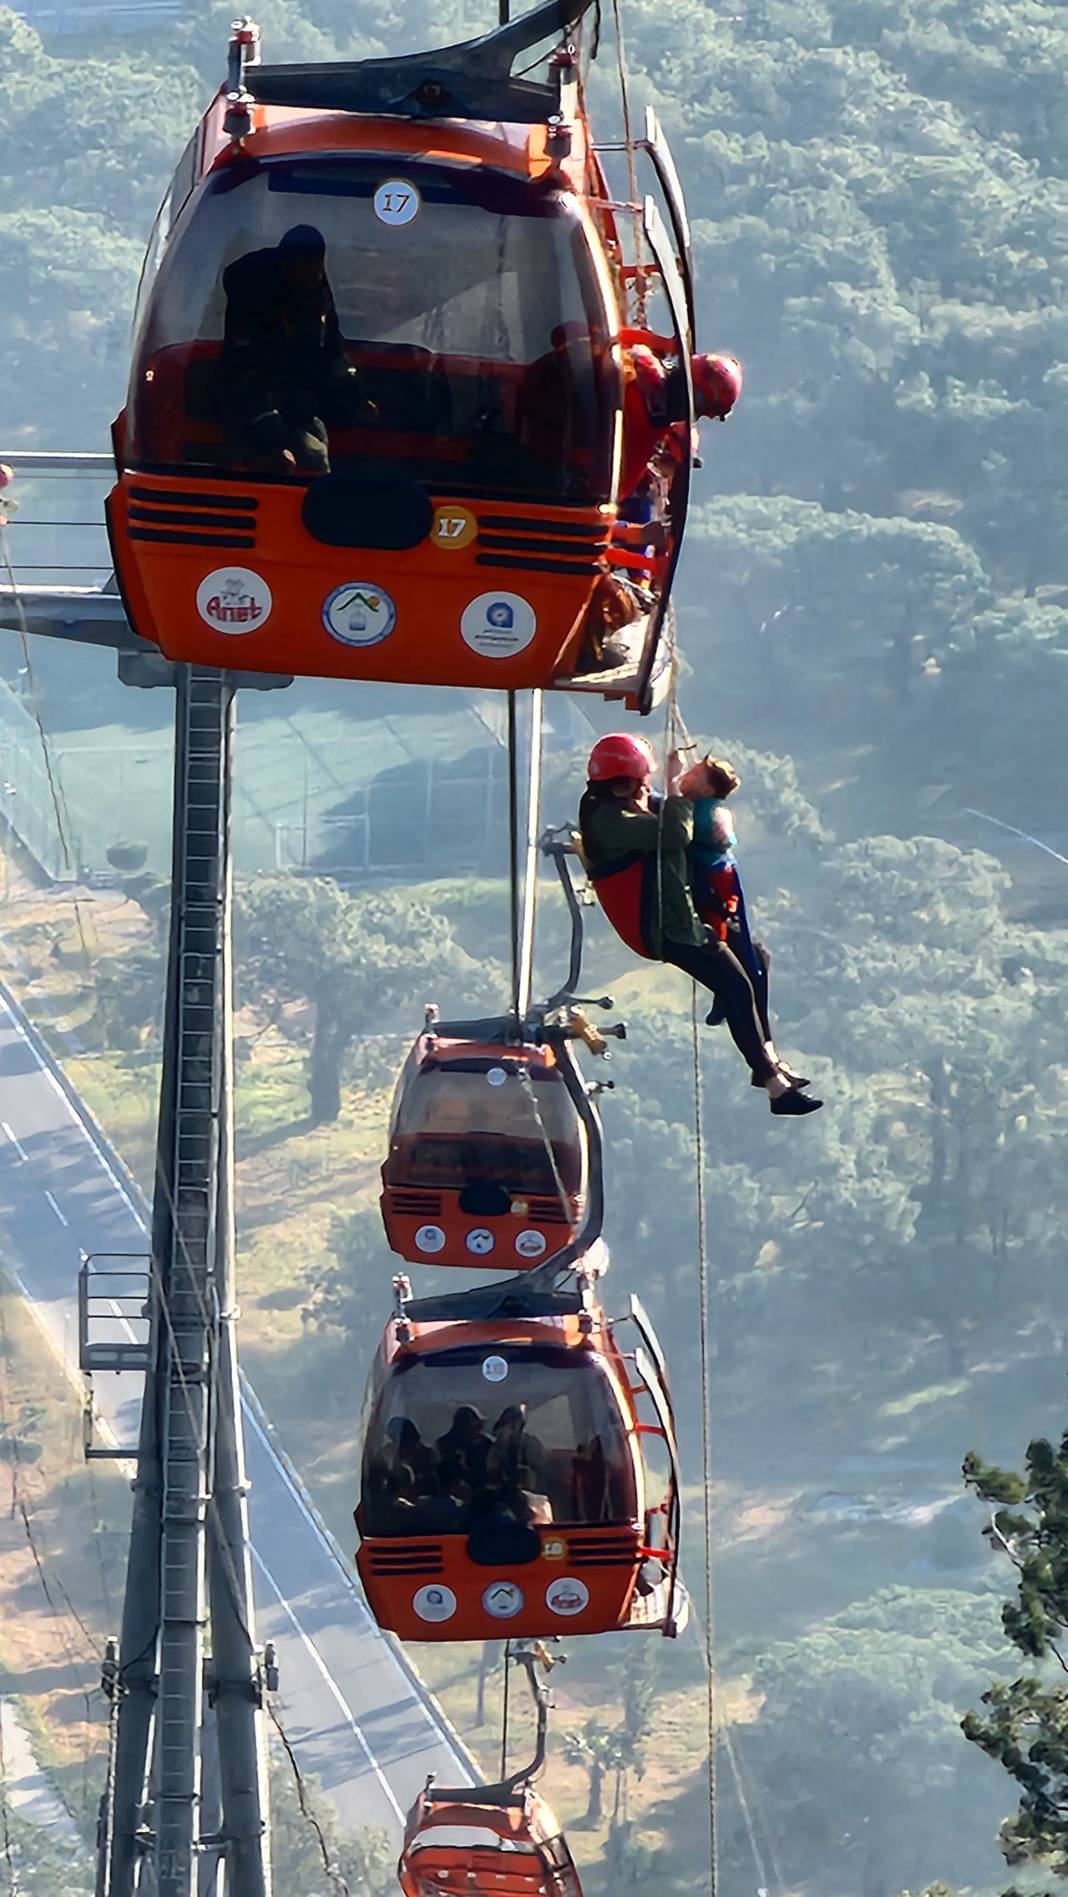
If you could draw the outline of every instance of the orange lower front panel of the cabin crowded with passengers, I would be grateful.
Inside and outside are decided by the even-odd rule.
[[[613,1633],[626,1626],[639,1531],[541,1527],[535,1561],[482,1567],[465,1535],[370,1537],[357,1569],[379,1628],[404,1641]]]

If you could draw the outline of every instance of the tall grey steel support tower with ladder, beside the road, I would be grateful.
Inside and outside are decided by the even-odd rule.
[[[150,1341],[97,1893],[205,1897],[220,1888],[224,1865],[226,1897],[269,1897],[264,1679],[252,1620],[233,1269],[235,687],[226,673],[190,666],[175,668],[175,687]],[[83,1368],[129,1364],[129,1345],[116,1345],[116,1362],[108,1362],[106,1343],[85,1341]],[[211,1831],[203,1823],[209,1812],[201,1812],[205,1696],[214,1713],[218,1787]]]

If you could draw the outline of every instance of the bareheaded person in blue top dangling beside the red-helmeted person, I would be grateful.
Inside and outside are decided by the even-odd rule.
[[[689,764],[679,776],[679,795],[689,797],[694,806],[694,840],[691,844],[691,890],[694,909],[706,928],[709,928],[721,943],[727,943],[734,950],[753,983],[757,1013],[764,1030],[764,1045],[776,1059],[780,1074],[793,1081],[795,1087],[808,1087],[804,1076],[795,1074],[795,1070],[787,1066],[782,1055],[774,1049],[768,1015],[770,958],[764,945],[755,943],[749,933],[746,892],[738,875],[738,857],[734,856],[738,837],[734,831],[734,816],[727,808],[727,799],[732,797],[740,785],[742,778],[734,770],[734,764],[728,764],[723,757],[711,755],[698,759],[696,764]],[[727,1019],[717,1007],[713,1007],[711,1013],[719,1019]]]

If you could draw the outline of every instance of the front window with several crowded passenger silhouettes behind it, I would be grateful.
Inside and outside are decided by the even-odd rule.
[[[360,1499],[364,1533],[387,1537],[632,1521],[634,1463],[607,1370],[552,1345],[400,1358],[364,1440]]]

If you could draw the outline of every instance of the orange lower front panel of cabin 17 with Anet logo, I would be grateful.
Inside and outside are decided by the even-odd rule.
[[[609,508],[433,499],[429,535],[389,550],[315,539],[313,491],[123,474],[108,527],[135,632],[243,672],[522,691],[575,670]]]

